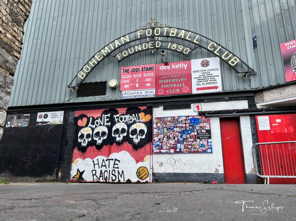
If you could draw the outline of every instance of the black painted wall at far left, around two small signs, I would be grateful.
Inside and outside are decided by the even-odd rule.
[[[61,144],[67,111],[64,110],[64,125],[43,126],[36,125],[37,112],[7,113],[30,114],[30,123],[28,127],[4,128],[0,140],[0,179],[18,182],[58,180],[59,167],[63,164]]]

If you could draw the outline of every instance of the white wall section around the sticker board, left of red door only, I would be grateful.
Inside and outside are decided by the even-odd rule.
[[[191,109],[163,110],[153,109],[153,118],[170,116],[197,115]],[[152,170],[154,173],[224,173],[222,143],[219,117],[211,117],[213,153],[209,154],[153,154]]]

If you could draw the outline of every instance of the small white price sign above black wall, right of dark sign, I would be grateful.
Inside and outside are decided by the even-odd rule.
[[[36,125],[61,125],[63,124],[64,111],[37,113]]]

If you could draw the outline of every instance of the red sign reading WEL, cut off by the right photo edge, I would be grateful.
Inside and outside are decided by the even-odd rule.
[[[286,82],[296,80],[296,40],[281,44]]]

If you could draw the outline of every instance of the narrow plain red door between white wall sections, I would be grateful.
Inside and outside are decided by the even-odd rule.
[[[221,139],[226,184],[244,184],[244,162],[239,118],[221,118]]]

